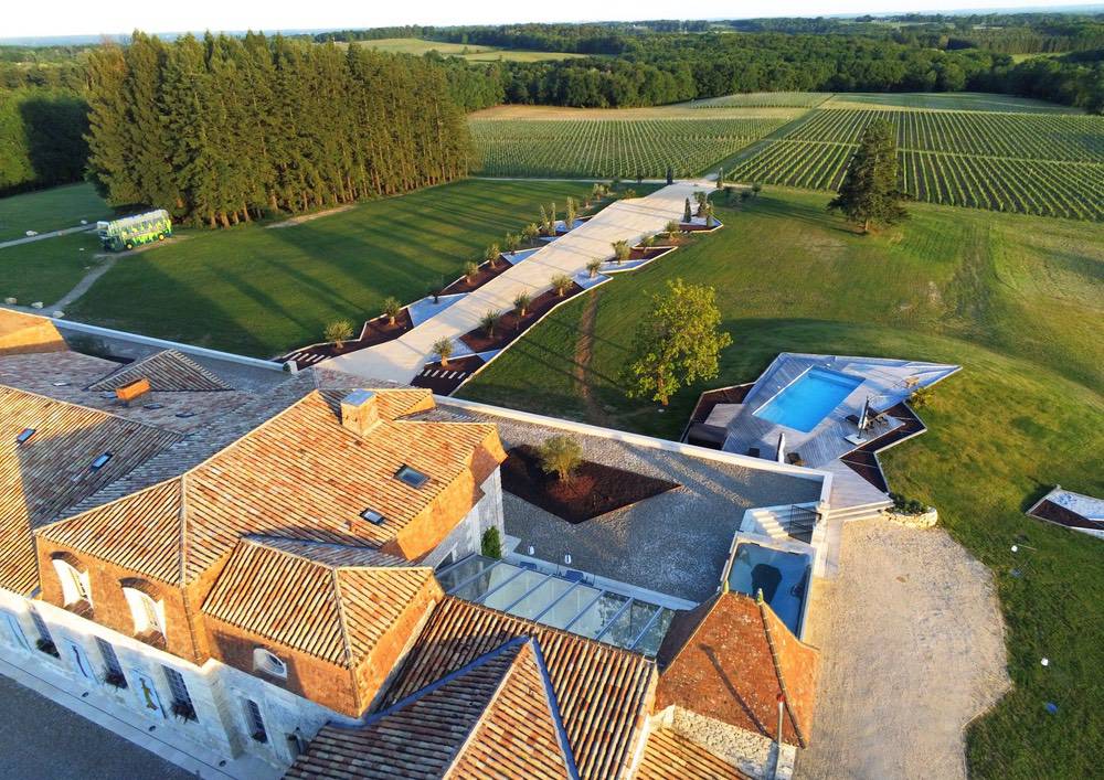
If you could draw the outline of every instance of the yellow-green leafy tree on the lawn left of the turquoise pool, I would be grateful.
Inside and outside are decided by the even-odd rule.
[[[651,314],[640,322],[631,359],[620,380],[629,398],[650,397],[667,406],[670,397],[697,380],[718,374],[718,355],[732,343],[719,331],[721,312],[712,287],[667,282],[667,295],[652,297]]]

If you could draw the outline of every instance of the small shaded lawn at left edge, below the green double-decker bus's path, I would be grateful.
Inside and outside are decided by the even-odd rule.
[[[49,307],[81,281],[99,252],[95,233],[71,233],[2,248],[0,299],[17,298],[23,304],[42,301]]]

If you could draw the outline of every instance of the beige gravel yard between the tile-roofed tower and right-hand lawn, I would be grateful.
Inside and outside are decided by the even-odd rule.
[[[963,728],[1009,680],[992,579],[946,532],[847,524],[806,641],[824,665],[797,777],[966,777]]]

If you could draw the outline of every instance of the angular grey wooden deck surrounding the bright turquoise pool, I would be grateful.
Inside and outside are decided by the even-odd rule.
[[[761,406],[815,366],[860,376],[863,382],[808,432],[755,416]],[[784,434],[786,452],[799,453],[810,468],[825,468],[858,446],[847,438],[858,430],[847,417],[861,415],[868,396],[871,408],[882,412],[907,398],[914,389],[946,378],[958,367],[881,357],[783,352],[763,372],[742,404],[718,404],[705,424],[725,429],[723,449],[729,452],[743,455],[751,448],[757,448],[761,457],[769,458],[777,449],[779,435]],[[883,436],[903,425],[894,418],[888,420],[887,425],[869,431],[868,438]]]

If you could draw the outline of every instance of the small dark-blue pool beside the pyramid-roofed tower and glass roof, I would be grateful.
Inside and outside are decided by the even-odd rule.
[[[736,545],[729,588],[749,596],[762,589],[763,600],[795,637],[800,637],[802,605],[808,594],[811,573],[806,555],[745,542]]]

